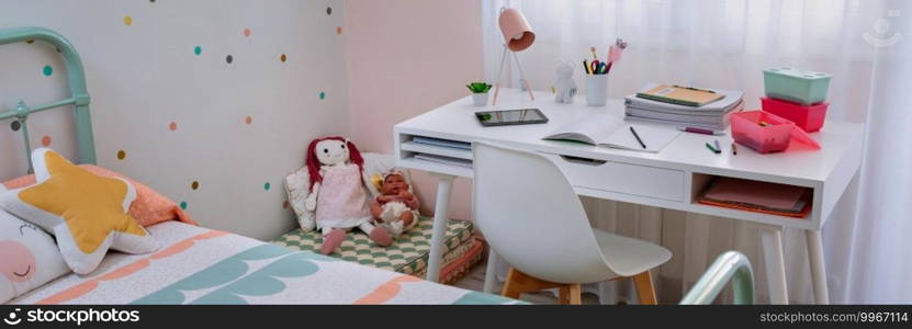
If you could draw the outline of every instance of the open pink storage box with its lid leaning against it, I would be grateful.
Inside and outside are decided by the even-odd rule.
[[[768,112],[757,110],[733,113],[731,122],[734,141],[761,154],[788,149],[791,137],[820,149],[820,145],[808,136],[808,133],[799,129],[795,123]],[[767,125],[762,126],[761,122]]]

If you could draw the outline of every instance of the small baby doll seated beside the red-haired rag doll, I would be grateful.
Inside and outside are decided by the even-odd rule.
[[[405,174],[390,170],[379,180],[380,195],[371,203],[371,214],[380,227],[394,236],[415,227],[418,223],[418,198],[409,191]]]

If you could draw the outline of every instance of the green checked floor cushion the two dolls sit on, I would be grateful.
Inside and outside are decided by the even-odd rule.
[[[390,247],[380,247],[373,243],[368,235],[360,230],[352,230],[346,236],[345,242],[330,257],[345,261],[395,271],[404,274],[424,276],[430,252],[430,237],[434,232],[434,218],[420,217],[418,225],[406,231]],[[316,251],[323,243],[323,235],[318,231],[304,232],[301,229],[290,231],[272,241],[282,247],[301,251]],[[473,226],[468,220],[450,219],[447,223],[447,236],[443,242],[443,264],[458,259],[460,247],[470,249],[474,243]],[[455,254],[451,254],[455,253]],[[441,273],[444,274],[444,273]],[[446,276],[443,279],[447,279]],[[446,282],[446,280],[441,280]]]

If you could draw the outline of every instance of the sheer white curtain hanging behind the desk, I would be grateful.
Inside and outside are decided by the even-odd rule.
[[[646,82],[740,89],[746,109],[758,109],[762,69],[795,66],[830,72],[829,118],[867,122],[863,170],[824,227],[829,287],[834,303],[912,302],[912,115],[899,95],[912,91],[908,64],[897,60],[912,43],[903,26],[912,5],[859,0],[505,0],[484,1],[485,73],[497,78],[502,7],[519,8],[536,31],[518,54],[532,89],[550,90],[559,63],[577,63],[596,45],[605,57],[616,37],[630,46],[613,66],[609,93],[622,98]],[[902,31],[902,29],[905,29]],[[909,36],[902,37],[908,32]],[[894,34],[900,34],[898,41]],[[504,72],[519,86],[516,67]],[[904,88],[904,89],[902,89]],[[903,93],[904,90],[904,93]],[[905,127],[905,128],[903,128]],[[825,127],[824,127],[825,128]],[[904,183],[899,183],[904,182]],[[677,302],[716,256],[736,249],[757,273],[759,299],[766,275],[757,228],[741,222],[585,198],[600,228],[660,242],[674,252],[657,275],[660,298]],[[684,220],[686,219],[686,220]],[[897,230],[901,228],[900,230]],[[784,232],[789,299],[813,302],[804,235]]]

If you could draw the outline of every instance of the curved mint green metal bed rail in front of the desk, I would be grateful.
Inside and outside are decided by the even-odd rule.
[[[682,305],[707,305],[719,295],[725,284],[732,282],[734,304],[754,304],[754,270],[743,253],[727,251],[700,276],[697,284],[680,300]]]

